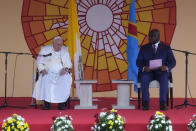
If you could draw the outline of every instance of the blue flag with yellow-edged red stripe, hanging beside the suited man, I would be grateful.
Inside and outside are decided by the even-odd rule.
[[[127,79],[134,81],[134,91],[136,92],[137,92],[137,75],[138,75],[136,59],[138,56],[138,52],[139,51],[138,51],[138,40],[137,40],[135,0],[132,0],[129,7],[128,40],[127,40],[127,60],[128,60]]]

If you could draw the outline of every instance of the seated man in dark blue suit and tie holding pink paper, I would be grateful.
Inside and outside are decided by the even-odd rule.
[[[170,46],[160,42],[159,30],[151,30],[148,38],[149,43],[140,48],[137,58],[137,66],[141,72],[142,109],[149,110],[149,84],[156,79],[160,83],[160,110],[167,110],[168,75],[175,67],[176,60]],[[151,60],[161,60],[162,64],[152,69],[149,64]]]

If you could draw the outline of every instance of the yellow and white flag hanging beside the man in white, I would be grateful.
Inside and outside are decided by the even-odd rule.
[[[68,41],[69,54],[74,62],[75,80],[83,79],[83,66],[80,45],[80,33],[75,0],[69,0],[68,12]],[[77,96],[79,97],[79,85],[76,84]]]

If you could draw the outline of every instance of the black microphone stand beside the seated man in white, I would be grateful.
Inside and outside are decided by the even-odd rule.
[[[4,108],[4,107],[13,107],[13,108],[22,108],[25,109],[26,107],[19,107],[19,106],[9,106],[7,103],[7,57],[8,54],[18,54],[18,55],[22,55],[22,54],[26,54],[26,55],[31,55],[29,53],[16,53],[16,52],[0,52],[1,54],[5,54],[5,96],[4,96],[4,103],[2,106],[0,106],[0,108]]]

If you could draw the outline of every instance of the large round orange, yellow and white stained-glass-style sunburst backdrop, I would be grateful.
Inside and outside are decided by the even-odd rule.
[[[22,26],[30,51],[62,36],[67,43],[69,0],[24,0]],[[126,45],[130,0],[77,0],[85,79],[96,79],[95,91],[116,89],[114,79],[127,78]],[[176,25],[175,0],[136,0],[138,45],[158,28],[170,44]]]

